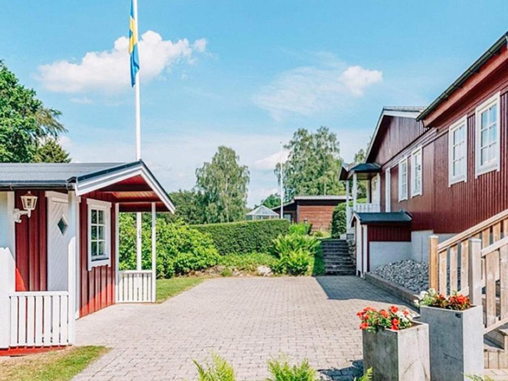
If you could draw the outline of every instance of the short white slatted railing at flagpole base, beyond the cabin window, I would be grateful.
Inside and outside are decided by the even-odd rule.
[[[116,277],[117,303],[151,303],[155,301],[152,270],[118,271]]]

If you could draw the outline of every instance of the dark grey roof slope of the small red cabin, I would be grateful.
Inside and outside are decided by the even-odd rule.
[[[136,162],[137,163],[137,162]],[[0,188],[66,187],[76,178],[126,166],[126,163],[0,163]]]

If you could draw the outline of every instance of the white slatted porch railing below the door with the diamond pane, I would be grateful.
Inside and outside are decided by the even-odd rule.
[[[68,345],[67,291],[15,292],[11,306],[11,346]]]

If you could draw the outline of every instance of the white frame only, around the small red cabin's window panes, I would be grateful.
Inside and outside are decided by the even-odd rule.
[[[111,267],[111,203],[107,201],[101,200],[93,200],[86,199],[88,215],[87,215],[87,226],[88,226],[88,236],[87,236],[87,258],[88,258],[88,271],[92,269],[92,267],[99,266],[109,266]],[[102,210],[104,211],[104,224],[105,224],[105,247],[104,247],[104,257],[100,259],[92,260],[91,252],[92,252],[92,243],[91,243],[91,220],[92,220],[92,209]]]

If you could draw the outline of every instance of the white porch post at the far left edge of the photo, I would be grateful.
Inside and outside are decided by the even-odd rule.
[[[0,348],[8,348],[11,337],[9,294],[15,291],[16,236],[14,192],[0,192]]]

